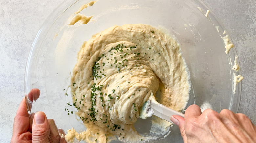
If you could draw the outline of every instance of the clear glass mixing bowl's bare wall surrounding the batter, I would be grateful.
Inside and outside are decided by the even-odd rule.
[[[43,111],[55,120],[58,128],[67,131],[74,127],[85,130],[82,121],[67,110],[76,111],[72,103],[70,77],[76,56],[84,41],[113,25],[149,24],[163,26],[181,44],[183,57],[190,71],[192,88],[187,106],[197,104],[220,112],[230,109],[237,113],[241,82],[233,93],[231,70],[235,48],[225,54],[222,39],[225,28],[213,12],[200,0],[99,0],[81,14],[94,15],[88,24],[68,26],[72,15],[88,0],[66,0],[47,18],[39,30],[28,58],[25,73],[25,95],[39,88],[36,101],[27,98],[30,113]],[[203,13],[198,9],[202,8]],[[207,18],[204,14],[210,10]],[[216,26],[219,26],[218,30]],[[231,40],[231,39],[230,39]],[[239,61],[238,61],[239,64]],[[237,74],[241,74],[239,71]],[[206,104],[206,105],[207,105]],[[140,123],[138,123],[140,122]],[[140,133],[149,129],[148,122],[138,119]],[[183,142],[177,126],[164,139],[152,142]]]

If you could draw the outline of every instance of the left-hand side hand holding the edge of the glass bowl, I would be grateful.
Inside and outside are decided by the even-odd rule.
[[[32,89],[27,97],[33,101],[39,95],[39,89]],[[31,108],[31,104],[28,106]],[[26,99],[22,99],[14,117],[11,143],[66,143],[59,133],[65,135],[62,129],[57,129],[54,120],[47,119],[43,112],[28,114]]]

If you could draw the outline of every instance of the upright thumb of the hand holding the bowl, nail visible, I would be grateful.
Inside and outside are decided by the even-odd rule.
[[[44,112],[36,112],[32,126],[32,142],[48,143],[50,135],[49,123]]]

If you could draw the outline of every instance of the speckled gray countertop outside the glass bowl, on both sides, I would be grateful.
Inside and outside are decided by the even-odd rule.
[[[24,72],[33,40],[62,0],[1,0],[0,142],[10,142],[13,118],[24,96]],[[239,112],[256,123],[256,1],[203,0],[222,21],[236,46],[242,69]]]

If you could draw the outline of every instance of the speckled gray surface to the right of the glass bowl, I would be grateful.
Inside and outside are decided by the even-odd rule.
[[[256,1],[202,0],[222,21],[237,50],[242,76],[239,113],[256,124]]]

